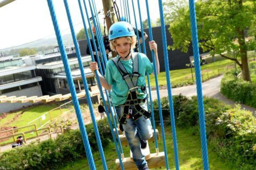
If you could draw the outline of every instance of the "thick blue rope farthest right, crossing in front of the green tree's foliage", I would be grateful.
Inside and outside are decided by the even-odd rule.
[[[199,50],[198,50],[198,34],[197,34],[194,0],[189,0],[189,12],[190,12],[190,22],[191,22],[191,32],[192,32],[193,54],[194,54],[194,60],[195,60],[195,78],[196,78],[196,90],[197,90],[197,99],[198,99],[199,125],[200,125],[200,132],[201,132],[200,134],[201,134],[202,156],[203,156],[203,162],[204,162],[204,170],[209,170],[207,139],[206,139],[205,119],[204,119],[204,100],[203,100],[203,92],[202,92],[201,68],[200,68],[200,59],[199,59]]]

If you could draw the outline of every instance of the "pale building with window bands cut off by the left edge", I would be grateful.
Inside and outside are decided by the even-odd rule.
[[[42,77],[35,74],[36,65],[26,65],[22,58],[1,57],[0,95],[42,96],[39,82]],[[0,103],[0,113],[20,109],[31,103]]]

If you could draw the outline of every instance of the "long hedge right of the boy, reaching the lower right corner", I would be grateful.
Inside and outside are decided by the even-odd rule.
[[[161,99],[162,108],[169,109],[167,97]],[[175,123],[180,128],[192,129],[198,135],[199,115],[197,97],[174,96]],[[157,104],[157,100],[153,105]],[[219,156],[235,164],[239,170],[254,170],[256,167],[256,119],[250,111],[239,105],[231,108],[217,99],[204,97],[204,111],[208,143]],[[159,113],[155,112],[155,117]],[[169,119],[169,113],[163,114]],[[198,137],[200,137],[198,135]]]

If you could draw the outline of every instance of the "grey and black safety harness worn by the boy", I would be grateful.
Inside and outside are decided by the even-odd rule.
[[[145,91],[145,86],[139,87],[137,86],[138,78],[140,77],[139,73],[139,57],[138,53],[133,53],[135,55],[131,55],[131,59],[133,60],[133,73],[132,75],[129,74],[122,62],[119,62],[121,57],[115,57],[112,59],[114,65],[116,66],[117,70],[122,75],[122,79],[125,80],[126,85],[129,88],[128,96],[126,98],[126,102],[122,104],[124,106],[124,111],[122,113],[122,116],[119,119],[120,124],[125,124],[126,119],[128,118],[130,106],[134,106],[137,113],[132,114],[134,121],[139,119],[141,116],[144,116],[146,119],[151,116],[150,111],[146,111],[144,108],[140,106],[141,103],[145,103],[144,99],[138,99],[137,98],[137,88],[142,89],[142,91]]]

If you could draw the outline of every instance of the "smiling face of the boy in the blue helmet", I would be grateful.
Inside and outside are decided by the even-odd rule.
[[[131,50],[131,44],[127,37],[117,38],[115,47],[120,57],[126,57]]]

